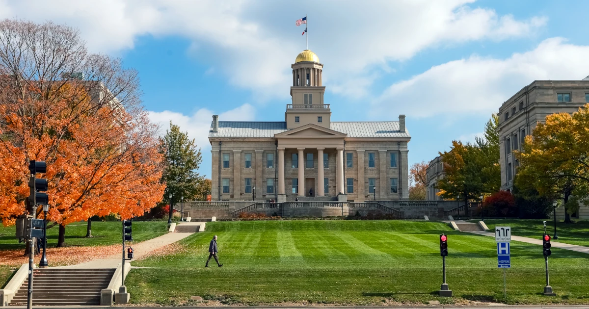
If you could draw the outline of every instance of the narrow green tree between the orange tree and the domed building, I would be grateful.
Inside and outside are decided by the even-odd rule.
[[[196,198],[202,191],[204,177],[196,172],[203,159],[194,139],[189,139],[188,132],[181,132],[180,127],[170,121],[170,129],[160,138],[160,153],[164,155],[161,182],[166,184],[164,198],[167,202],[174,205],[180,197],[185,200]]]

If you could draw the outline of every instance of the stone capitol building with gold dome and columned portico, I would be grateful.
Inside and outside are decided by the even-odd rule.
[[[332,121],[323,64],[306,49],[292,67],[292,104],[281,121],[213,115],[213,201],[407,200],[405,115],[398,121]],[[285,89],[286,90],[286,89]]]

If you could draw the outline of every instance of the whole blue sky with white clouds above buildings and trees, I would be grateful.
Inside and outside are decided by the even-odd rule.
[[[305,14],[332,119],[406,114],[412,164],[473,141],[534,79],[589,75],[587,11],[588,1],[0,0],[0,18],[75,26],[92,52],[136,68],[150,118],[196,139],[204,175],[212,114],[283,120]]]

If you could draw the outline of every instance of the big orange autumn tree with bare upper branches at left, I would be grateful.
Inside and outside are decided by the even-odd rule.
[[[111,213],[131,218],[160,202],[157,127],[139,95],[137,73],[118,59],[88,54],[75,29],[0,22],[4,225],[39,212],[25,205],[28,160],[47,162],[41,176],[49,184],[48,220],[59,224],[58,246],[70,222]]]

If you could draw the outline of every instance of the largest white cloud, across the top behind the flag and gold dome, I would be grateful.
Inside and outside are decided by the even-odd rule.
[[[472,9],[471,2],[0,0],[0,18],[76,26],[88,46],[101,52],[133,48],[140,35],[184,36],[193,41],[196,59],[264,99],[288,93],[289,65],[305,46],[294,20],[303,15],[301,8],[312,6],[310,46],[326,62],[325,80],[335,91],[358,97],[372,84],[372,70],[386,71],[388,61],[436,45],[528,36],[547,22],[517,21],[492,9]],[[361,22],[342,22],[350,16]]]

